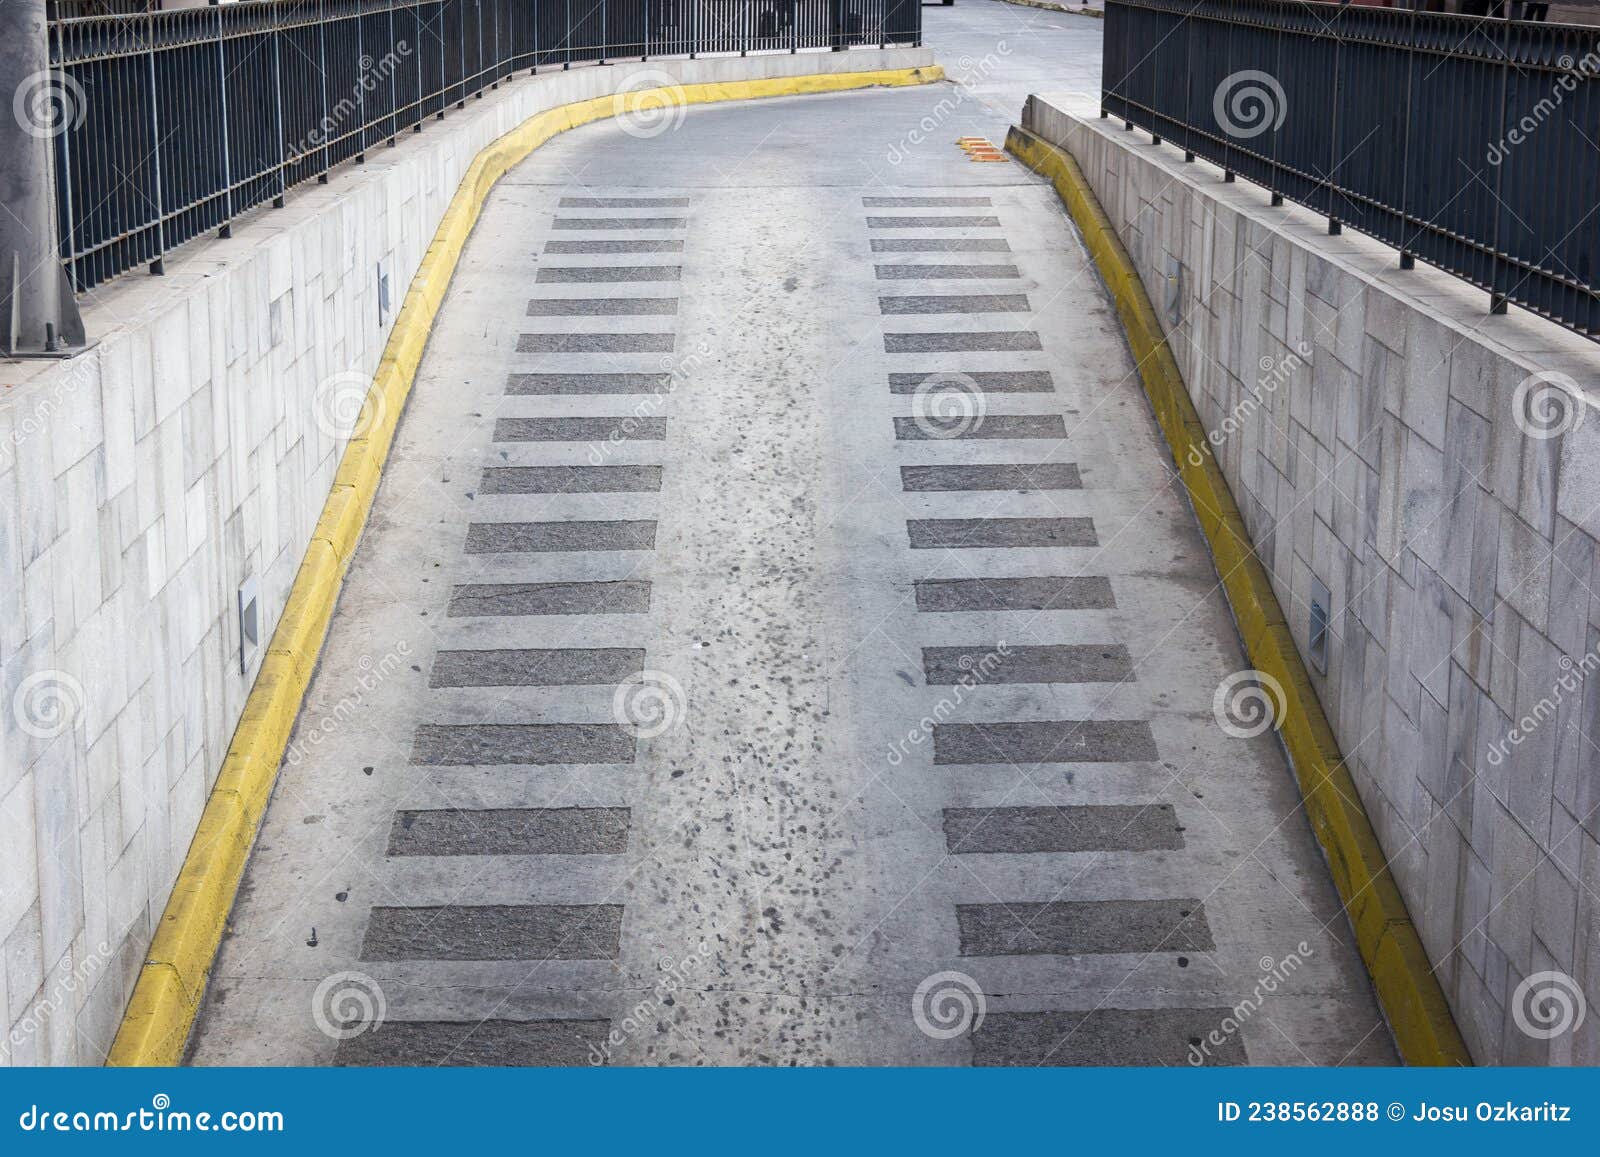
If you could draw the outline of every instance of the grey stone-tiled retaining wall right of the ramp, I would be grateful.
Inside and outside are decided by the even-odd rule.
[[[1475,1059],[1600,1064],[1595,346],[1120,122],[1030,98],[1024,126],[1162,315]],[[1554,435],[1526,418],[1552,384]],[[1525,1031],[1563,991],[1590,1015]]]

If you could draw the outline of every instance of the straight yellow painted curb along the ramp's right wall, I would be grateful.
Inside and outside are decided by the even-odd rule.
[[[1054,184],[1112,291],[1144,392],[1211,544],[1245,651],[1256,671],[1283,688],[1280,736],[1402,1059],[1472,1064],[1128,251],[1069,154],[1016,126],[1006,149]]]

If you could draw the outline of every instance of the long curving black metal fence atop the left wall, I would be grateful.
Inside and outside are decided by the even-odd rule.
[[[50,24],[61,258],[91,288],[522,70],[920,43],[918,0],[256,0]]]

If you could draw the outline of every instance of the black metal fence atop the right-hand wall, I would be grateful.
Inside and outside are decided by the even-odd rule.
[[[1107,0],[1102,115],[1600,336],[1600,29]]]

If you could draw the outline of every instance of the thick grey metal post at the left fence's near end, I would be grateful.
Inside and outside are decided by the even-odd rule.
[[[64,357],[83,346],[83,318],[56,246],[54,133],[82,114],[59,74],[50,70],[45,0],[0,3],[0,86],[51,104],[50,128],[29,117],[0,117],[0,346],[13,357]],[[70,106],[70,107],[66,107]],[[14,104],[14,107],[24,107]],[[62,115],[64,114],[64,115]]]

